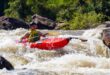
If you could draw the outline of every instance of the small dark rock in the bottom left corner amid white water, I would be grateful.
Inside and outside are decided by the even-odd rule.
[[[4,57],[0,56],[0,69],[6,68],[7,70],[13,70],[12,64],[7,61]]]

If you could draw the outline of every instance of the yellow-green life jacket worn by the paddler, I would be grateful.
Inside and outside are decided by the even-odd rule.
[[[40,40],[39,32],[36,29],[34,29],[34,30],[31,29],[28,41],[29,42],[35,42],[38,40]]]

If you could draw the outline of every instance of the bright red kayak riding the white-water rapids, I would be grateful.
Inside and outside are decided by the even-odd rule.
[[[31,43],[31,48],[53,50],[66,46],[69,43],[70,38],[47,38],[40,42]]]

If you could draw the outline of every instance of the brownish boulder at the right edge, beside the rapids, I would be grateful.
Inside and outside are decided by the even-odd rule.
[[[110,48],[110,29],[104,29],[102,32],[103,43]]]

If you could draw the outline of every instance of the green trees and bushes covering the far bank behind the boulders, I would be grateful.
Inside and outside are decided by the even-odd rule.
[[[110,0],[5,0],[5,15],[27,22],[33,14],[67,24],[62,29],[87,29],[110,20]]]

